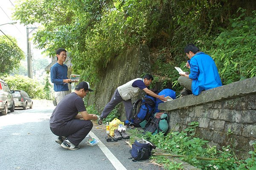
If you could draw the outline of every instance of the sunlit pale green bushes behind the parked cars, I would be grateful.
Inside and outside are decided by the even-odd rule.
[[[23,90],[32,98],[44,99],[44,87],[34,79],[22,75],[8,76],[3,78],[12,90]]]

